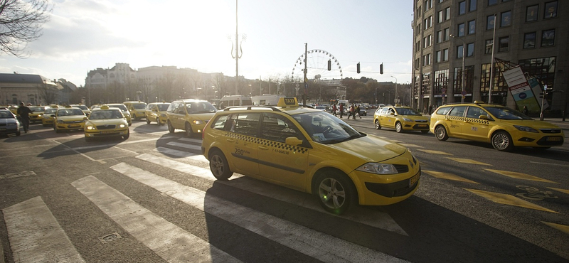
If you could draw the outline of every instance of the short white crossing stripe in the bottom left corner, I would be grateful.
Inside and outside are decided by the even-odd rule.
[[[41,197],[2,210],[14,262],[85,262]]]

